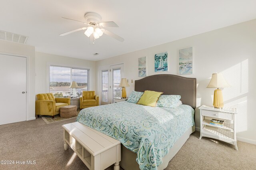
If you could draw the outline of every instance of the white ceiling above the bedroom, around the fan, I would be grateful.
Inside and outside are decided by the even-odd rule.
[[[256,18],[256,0],[1,0],[0,30],[28,36],[36,51],[97,61],[172,42]],[[89,45],[84,31],[59,36],[84,24],[97,12],[108,30],[124,42],[103,35]],[[93,56],[94,53],[99,53]]]

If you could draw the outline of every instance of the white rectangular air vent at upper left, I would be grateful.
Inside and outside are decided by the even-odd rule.
[[[0,40],[25,44],[28,40],[28,37],[0,30]]]

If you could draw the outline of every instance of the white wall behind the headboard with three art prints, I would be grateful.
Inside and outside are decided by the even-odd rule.
[[[168,51],[168,72],[159,74],[178,75],[178,51],[193,47],[194,73],[184,77],[196,77],[198,82],[197,106],[212,105],[214,88],[206,88],[212,73],[222,72],[232,85],[223,90],[224,104],[238,108],[238,140],[256,144],[256,20],[228,26],[189,38],[165,43],[155,47],[134,51],[96,62],[96,67],[125,63],[126,78],[134,89],[131,79],[138,77],[138,58],[147,57],[147,75],[154,75],[154,55]],[[172,33],[169,33],[172,34]],[[139,37],[138,37],[139,38]],[[136,40],[134,40],[136,41]],[[146,41],[146,40],[145,40]],[[96,72],[96,93],[100,94],[100,71]],[[200,127],[199,111],[196,109],[196,127]],[[239,147],[239,146],[238,146]]]

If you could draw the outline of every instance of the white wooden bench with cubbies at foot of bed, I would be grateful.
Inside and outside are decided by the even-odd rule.
[[[104,170],[114,165],[119,170],[121,160],[120,141],[79,122],[62,125],[64,128],[64,149],[70,148],[90,170]]]

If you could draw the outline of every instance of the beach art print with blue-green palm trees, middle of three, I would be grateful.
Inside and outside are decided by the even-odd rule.
[[[155,72],[168,71],[168,52],[155,54]]]

